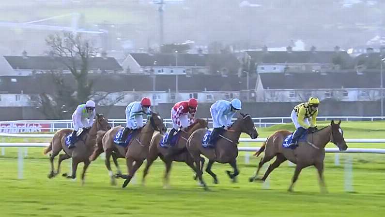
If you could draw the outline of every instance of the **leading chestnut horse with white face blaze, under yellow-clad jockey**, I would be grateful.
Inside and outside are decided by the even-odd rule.
[[[326,192],[326,186],[323,180],[323,160],[325,158],[325,146],[328,142],[334,143],[339,150],[346,150],[348,146],[343,138],[343,131],[339,127],[341,121],[337,124],[332,120],[331,124],[321,130],[318,130],[314,133],[308,134],[306,141],[299,141],[298,147],[294,150],[283,148],[282,143],[286,136],[290,135],[291,132],[286,130],[281,130],[275,132],[273,135],[269,136],[267,140],[262,144],[260,150],[258,150],[255,155],[260,155],[263,150],[265,155],[261,159],[258,169],[255,173],[255,176],[249,179],[250,182],[253,182],[257,179],[258,172],[264,163],[273,159],[277,156],[276,160],[267,168],[264,176],[261,181],[265,181],[267,176],[279,165],[289,160],[296,164],[292,184],[290,185],[288,191],[293,191],[293,186],[295,181],[298,179],[298,175],[301,170],[305,167],[314,166],[318,170],[318,175],[320,179],[321,191]]]

